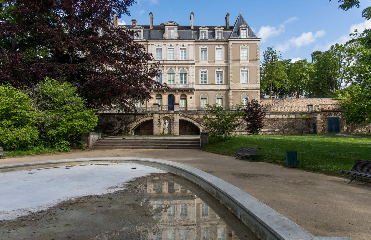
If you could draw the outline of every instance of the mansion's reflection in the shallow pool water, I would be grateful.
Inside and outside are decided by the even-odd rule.
[[[158,225],[148,240],[238,240],[239,238],[201,199],[165,178],[143,182],[141,191],[153,207]]]

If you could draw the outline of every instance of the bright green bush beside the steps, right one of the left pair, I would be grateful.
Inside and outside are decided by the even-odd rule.
[[[46,79],[30,94],[42,113],[38,124],[41,137],[53,148],[73,146],[80,134],[93,130],[98,122],[96,109],[85,109],[85,100],[70,83]]]

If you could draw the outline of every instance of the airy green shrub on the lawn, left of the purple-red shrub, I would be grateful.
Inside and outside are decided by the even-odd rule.
[[[241,106],[238,107],[237,111],[230,112],[223,106],[207,104],[206,112],[210,116],[204,115],[202,119],[209,128],[210,137],[227,141],[233,130],[241,125],[240,122],[236,121],[237,117],[242,115],[240,109]]]

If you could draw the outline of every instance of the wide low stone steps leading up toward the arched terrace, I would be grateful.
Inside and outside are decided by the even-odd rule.
[[[199,149],[200,137],[105,137],[93,149]]]

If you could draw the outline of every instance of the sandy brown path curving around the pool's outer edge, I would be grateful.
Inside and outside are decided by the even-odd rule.
[[[239,187],[315,236],[371,239],[371,184],[348,184],[341,177],[190,149],[83,150],[5,157],[1,163],[82,157],[150,157],[187,164]]]

